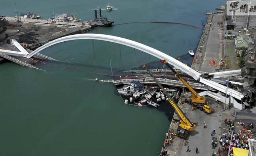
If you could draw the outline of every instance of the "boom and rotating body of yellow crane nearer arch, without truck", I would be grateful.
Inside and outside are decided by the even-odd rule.
[[[171,71],[175,74],[175,76],[177,77],[178,80],[180,80],[188,89],[189,91],[192,93],[192,97],[191,100],[193,103],[202,103],[205,104],[205,97],[204,96],[200,96],[199,94],[197,94],[197,92],[191,87],[191,85],[189,85],[181,76],[179,73],[177,73],[172,66],[170,66],[170,64],[168,64],[168,62],[166,60],[162,60],[162,63],[166,64]]]

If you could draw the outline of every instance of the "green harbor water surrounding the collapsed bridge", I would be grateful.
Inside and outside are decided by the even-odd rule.
[[[203,27],[206,12],[224,0],[22,0],[17,11],[33,11],[48,19],[68,12],[82,21],[102,11],[114,24],[126,22],[180,22]],[[14,16],[14,1],[1,0],[0,15]],[[137,23],[95,28],[89,33],[124,37],[151,46],[191,64],[202,30],[177,24]],[[93,48],[94,44],[94,48]],[[164,111],[123,104],[116,87],[93,81],[159,61],[116,43],[69,41],[41,52],[64,62],[37,64],[45,71],[11,62],[0,64],[0,156],[157,156],[170,124]],[[70,62],[70,63],[69,63]],[[153,67],[152,67],[153,68]],[[94,73],[93,73],[94,72]]]

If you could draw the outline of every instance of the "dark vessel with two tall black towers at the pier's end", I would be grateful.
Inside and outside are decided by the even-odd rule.
[[[98,18],[96,9],[94,9],[94,13],[95,13],[95,19],[89,20],[90,23],[96,24],[97,26],[100,26],[100,27],[110,27],[112,26],[112,23],[114,23],[114,21],[109,20],[106,17],[102,17],[101,8],[99,8],[99,18]]]

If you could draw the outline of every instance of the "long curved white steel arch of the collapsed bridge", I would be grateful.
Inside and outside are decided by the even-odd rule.
[[[166,60],[169,64],[176,66],[177,68],[179,68],[180,70],[182,70],[183,72],[187,73],[188,75],[190,75],[191,77],[193,77],[193,79],[200,81],[203,84],[206,84],[212,88],[215,88],[218,91],[221,91],[223,93],[226,93],[228,95],[233,96],[234,98],[237,98],[239,100],[241,100],[241,98],[244,97],[244,95],[238,91],[232,90],[230,88],[227,88],[226,86],[223,86],[221,84],[218,84],[214,81],[208,80],[208,79],[204,79],[203,77],[201,77],[199,72],[196,72],[195,70],[193,70],[192,68],[190,68],[189,66],[183,64],[182,62],[176,60],[175,58],[160,52],[159,50],[156,50],[152,47],[143,45],[142,43],[138,43],[129,39],[125,39],[125,38],[121,38],[121,37],[116,37],[116,36],[112,36],[112,35],[103,35],[103,34],[76,34],[76,35],[69,35],[69,36],[65,36],[65,37],[61,37],[58,39],[55,39],[53,41],[50,41],[48,43],[46,43],[45,45],[37,48],[36,50],[34,50],[32,53],[27,55],[27,58],[30,58],[32,56],[34,56],[35,54],[37,54],[38,52],[40,52],[41,50],[44,50],[45,48],[55,45],[57,43],[61,43],[61,42],[65,42],[65,41],[71,41],[71,40],[77,40],[77,39],[95,39],[95,40],[101,40],[101,41],[108,41],[108,42],[114,42],[114,43],[118,43],[121,45],[126,45],[129,47],[133,47],[135,49],[138,49],[142,52],[148,53],[152,56],[155,56],[161,60]]]

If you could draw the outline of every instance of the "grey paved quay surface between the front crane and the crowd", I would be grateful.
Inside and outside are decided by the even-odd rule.
[[[189,138],[183,144],[183,148],[181,150],[182,156],[211,156],[212,152],[218,152],[218,148],[212,149],[211,146],[211,131],[215,128],[215,137],[219,139],[220,127],[221,127],[221,111],[220,107],[216,107],[217,104],[215,100],[207,97],[207,101],[209,101],[209,105],[216,109],[215,113],[211,115],[207,115],[203,111],[197,109],[190,112],[189,117],[191,117],[192,122],[198,122],[198,126],[196,126],[196,130],[189,132]],[[203,122],[206,121],[207,128],[204,129]],[[187,151],[187,146],[191,149],[191,152]],[[196,154],[196,147],[199,149],[199,153]]]

